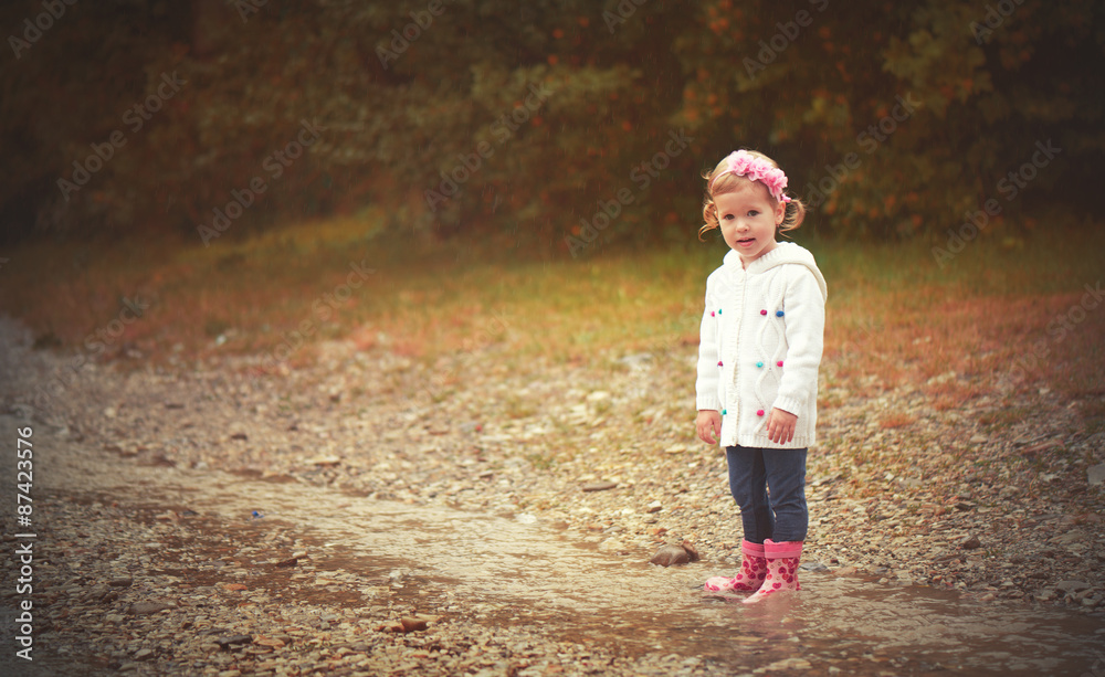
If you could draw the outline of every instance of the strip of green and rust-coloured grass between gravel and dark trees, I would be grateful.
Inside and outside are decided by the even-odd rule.
[[[1091,402],[1105,394],[1105,303],[1076,309],[1085,285],[1103,277],[1099,228],[1019,248],[974,242],[944,268],[919,243],[806,246],[829,281],[825,357],[836,384],[873,393],[916,382],[938,409],[982,394],[1000,372],[1022,389],[1049,382]],[[0,282],[15,293],[2,295],[0,311],[41,345],[97,359],[130,347],[155,362],[234,352],[295,368],[318,340],[345,338],[412,359],[499,347],[516,359],[590,361],[696,343],[706,275],[723,254],[688,236],[663,250],[551,260],[492,241],[389,240],[356,219],[210,247],[39,242],[4,254]],[[149,307],[124,325],[136,300]],[[1070,329],[1060,336],[1062,317]]]

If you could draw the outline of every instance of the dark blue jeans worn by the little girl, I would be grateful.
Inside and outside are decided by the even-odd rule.
[[[806,540],[810,525],[806,507],[806,451],[725,447],[729,491],[740,506],[745,540],[753,543],[766,539],[779,543]]]

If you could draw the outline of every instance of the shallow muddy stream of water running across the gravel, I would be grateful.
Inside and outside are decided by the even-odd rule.
[[[719,674],[812,668],[841,675],[1105,675],[1105,621],[1029,605],[960,601],[924,588],[802,573],[804,591],[764,604],[704,597],[726,573],[662,569],[614,554],[526,515],[478,515],[350,497],[295,483],[144,468],[95,455],[53,464],[53,488],[187,506],[235,522],[254,510],[291,527],[327,567],[445,588],[488,625],[529,623],[625,655],[699,657]],[[800,659],[799,659],[800,657]],[[802,663],[802,662],[807,663]],[[833,668],[839,669],[836,673]]]

